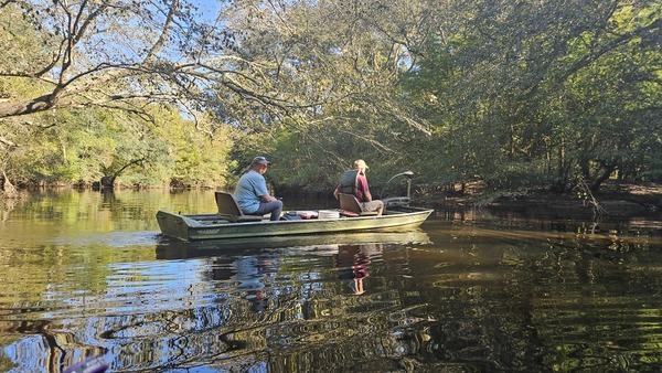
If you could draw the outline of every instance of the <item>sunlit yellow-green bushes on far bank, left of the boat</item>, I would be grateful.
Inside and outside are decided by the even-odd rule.
[[[222,132],[216,138],[203,135],[172,109],[153,111],[157,122],[86,110],[35,118],[56,124],[41,130],[15,126],[12,138],[19,146],[4,153],[8,175],[24,185],[105,180],[143,186],[225,184],[229,139]],[[30,141],[20,140],[20,130],[30,134]]]

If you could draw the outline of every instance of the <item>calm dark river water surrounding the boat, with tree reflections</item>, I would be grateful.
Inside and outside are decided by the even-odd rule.
[[[293,203],[286,201],[287,207]],[[212,192],[41,193],[0,210],[0,371],[654,372],[660,222],[437,211],[419,230],[186,244]]]

